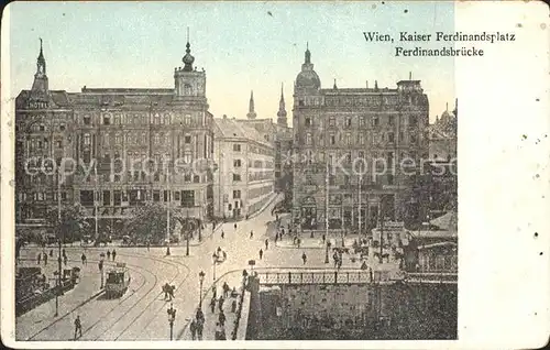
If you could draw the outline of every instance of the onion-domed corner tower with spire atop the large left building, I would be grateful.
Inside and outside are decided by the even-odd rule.
[[[174,83],[176,98],[205,97],[206,96],[206,73],[197,72],[194,67],[195,57],[191,55],[191,45],[189,44],[189,30],[187,30],[187,44],[185,56],[182,58],[184,67],[174,68]]]

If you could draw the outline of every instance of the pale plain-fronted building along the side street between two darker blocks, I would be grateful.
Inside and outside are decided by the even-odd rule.
[[[232,219],[250,216],[273,194],[273,144],[255,129],[227,116],[215,123],[215,214]]]

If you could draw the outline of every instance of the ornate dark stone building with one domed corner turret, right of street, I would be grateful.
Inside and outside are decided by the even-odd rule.
[[[321,88],[306,50],[294,86],[295,225],[324,230],[328,217],[330,230],[369,232],[380,211],[403,220],[411,201],[408,173],[428,155],[428,110],[411,77],[395,89],[377,83],[338,88],[336,81]]]

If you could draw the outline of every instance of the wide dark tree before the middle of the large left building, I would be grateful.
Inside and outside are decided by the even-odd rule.
[[[166,206],[158,203],[147,203],[144,206],[134,208],[132,215],[124,231],[133,240],[158,242],[166,238]],[[170,208],[172,234],[174,234],[176,222],[180,219],[180,212],[175,208]]]

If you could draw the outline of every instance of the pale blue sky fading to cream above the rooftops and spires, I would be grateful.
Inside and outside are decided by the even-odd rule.
[[[322,88],[395,88],[421,80],[430,120],[454,106],[449,57],[395,57],[399,32],[453,32],[452,2],[12,2],[11,88],[30,89],[43,39],[50,88],[172,88],[183,66],[189,28],[191,54],[207,74],[210,112],[246,118],[251,90],[257,118],[276,120],[280,86],[292,122],[293,87],[306,43]],[[367,43],[363,32],[391,34]]]

